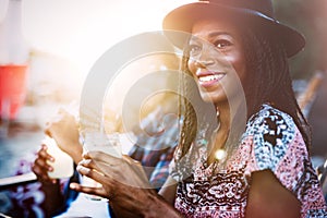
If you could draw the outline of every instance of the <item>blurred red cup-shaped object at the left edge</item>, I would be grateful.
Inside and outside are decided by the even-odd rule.
[[[13,120],[24,105],[27,65],[0,65],[0,118]]]

